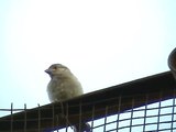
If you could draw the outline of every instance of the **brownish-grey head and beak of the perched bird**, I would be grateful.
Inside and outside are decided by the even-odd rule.
[[[53,77],[53,76],[66,76],[67,74],[70,74],[70,70],[62,64],[53,64],[45,72],[51,77]]]

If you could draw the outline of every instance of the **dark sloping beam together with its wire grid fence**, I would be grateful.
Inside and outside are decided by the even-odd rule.
[[[0,132],[73,132],[89,122],[92,132],[176,131],[176,81],[170,72],[28,109],[0,109]],[[15,113],[16,112],[16,113]]]

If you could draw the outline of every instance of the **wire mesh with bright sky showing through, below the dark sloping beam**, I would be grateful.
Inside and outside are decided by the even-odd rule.
[[[92,130],[95,132],[174,132],[176,131],[175,99],[96,120]]]

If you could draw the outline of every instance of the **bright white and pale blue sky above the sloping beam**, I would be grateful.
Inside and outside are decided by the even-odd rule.
[[[168,70],[176,0],[0,0],[0,108],[48,103],[62,63],[85,92]]]

